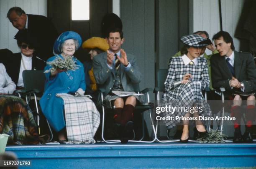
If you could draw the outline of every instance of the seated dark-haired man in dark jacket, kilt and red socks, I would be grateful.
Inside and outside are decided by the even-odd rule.
[[[225,87],[232,94],[231,115],[234,122],[234,143],[252,143],[251,126],[255,116],[256,68],[250,53],[237,52],[233,39],[228,32],[220,31],[212,38],[218,54],[211,57],[212,86],[215,89]],[[241,134],[241,103],[247,100],[246,131]]]

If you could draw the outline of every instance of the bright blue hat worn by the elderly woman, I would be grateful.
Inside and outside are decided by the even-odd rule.
[[[75,40],[78,41],[77,49],[82,44],[82,38],[81,38],[81,36],[77,32],[73,32],[73,31],[63,32],[63,33],[61,33],[61,35],[59,35],[59,37],[54,42],[54,55],[61,53],[61,44],[63,42],[65,42],[65,40],[69,40],[69,39],[75,39]]]

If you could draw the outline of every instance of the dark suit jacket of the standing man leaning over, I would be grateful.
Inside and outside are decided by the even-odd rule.
[[[47,60],[53,56],[54,41],[59,36],[56,28],[51,20],[42,15],[28,15],[28,32],[36,40],[37,56],[43,60]]]

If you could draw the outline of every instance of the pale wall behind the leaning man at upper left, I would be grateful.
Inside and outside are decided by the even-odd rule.
[[[20,52],[16,40],[13,39],[18,30],[6,17],[11,7],[21,7],[27,14],[47,14],[47,0],[0,0],[0,49],[8,48],[13,53]]]

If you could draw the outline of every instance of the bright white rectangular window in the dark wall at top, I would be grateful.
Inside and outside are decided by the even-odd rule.
[[[72,20],[89,20],[90,3],[89,0],[72,0]]]

